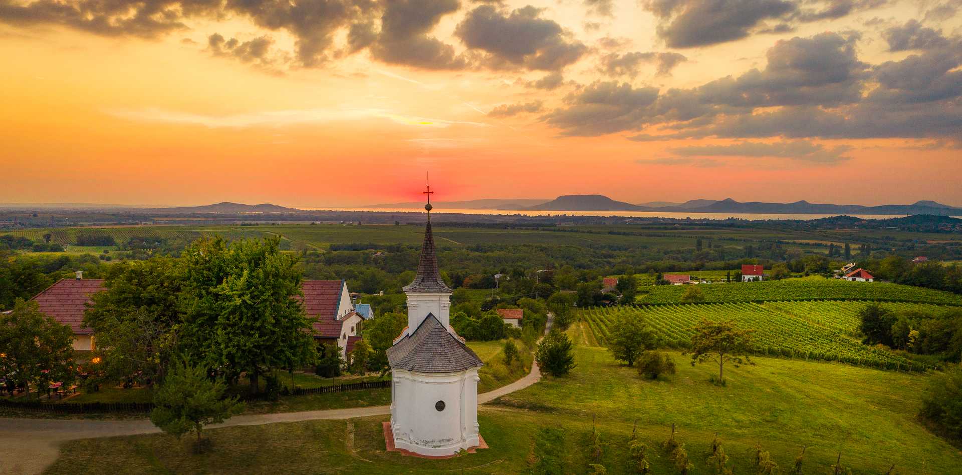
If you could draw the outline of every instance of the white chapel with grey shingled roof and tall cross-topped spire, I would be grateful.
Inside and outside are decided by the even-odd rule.
[[[428,197],[418,274],[404,287],[408,326],[388,349],[388,361],[394,446],[438,457],[479,445],[477,384],[483,363],[449,323],[453,290],[438,271]]]

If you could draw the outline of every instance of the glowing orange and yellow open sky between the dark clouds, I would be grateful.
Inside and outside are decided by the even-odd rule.
[[[293,59],[298,33],[266,30],[252,16],[237,12],[220,18],[187,17],[183,28],[144,38],[89,31],[38,13],[30,22],[14,21],[2,6],[23,8],[31,2],[0,0],[4,64],[0,202],[196,205],[230,200],[294,207],[360,206],[419,199],[424,172],[430,170],[438,200],[602,193],[636,203],[731,197],[866,205],[933,199],[962,205],[958,185],[962,136],[950,128],[943,132],[938,122],[919,132],[912,120],[886,117],[889,122],[852,125],[854,132],[839,137],[827,137],[835,134],[826,132],[793,135],[791,127],[720,137],[715,133],[719,129],[698,125],[686,129],[696,131],[696,137],[637,141],[628,137],[671,133],[676,122],[665,116],[638,119],[654,109],[633,106],[622,111],[620,99],[597,105],[588,94],[615,81],[633,91],[655,87],[663,100],[672,88],[694,91],[727,76],[746,79],[747,84],[747,73],[755,68],[771,72],[751,86],[764,88],[764,100],[769,102],[737,113],[713,103],[722,114],[705,115],[705,120],[748,120],[761,113],[790,111],[800,106],[771,103],[768,97],[777,94],[774,87],[796,91],[810,85],[792,83],[792,74],[786,79],[770,63],[782,58],[782,52],[791,55],[815,45],[818,35],[831,33],[845,37],[845,44],[852,45],[851,55],[861,63],[851,81],[862,99],[843,106],[853,108],[888,84],[889,76],[874,72],[880,70],[879,64],[913,55],[925,59],[936,52],[943,59],[951,56],[945,51],[962,44],[953,43],[962,31],[962,13],[931,13],[942,4],[927,2],[920,7],[913,1],[853,9],[824,20],[798,19],[804,18],[799,11],[762,18],[747,28],[744,38],[671,47],[678,39],[661,32],[670,31],[680,15],[696,13],[700,0],[678,3],[686,1],[687,6],[671,16],[658,16],[645,2],[634,0],[612,2],[612,15],[597,12],[596,5],[605,2],[530,2],[544,10],[516,18],[537,18],[532,28],[544,27],[542,20],[554,22],[561,33],[551,41],[584,46],[576,61],[553,69],[531,65],[533,57],[525,57],[523,64],[496,63],[494,57],[502,51],[496,48],[510,44],[495,41],[488,50],[469,47],[459,31],[465,30],[461,24],[477,4],[455,1],[457,9],[443,14],[427,34],[476,63],[439,70],[378,58],[374,46],[344,53],[346,23],[332,34],[328,60],[309,65]],[[67,3],[82,6],[84,0]],[[509,18],[528,3],[509,1],[493,9]],[[379,8],[364,13],[373,19],[375,30],[387,14]],[[886,32],[911,19],[943,39],[894,51]],[[779,22],[790,25],[791,31],[762,33]],[[217,56],[208,45],[214,33],[239,42],[268,36],[269,53],[260,58],[269,60],[245,63],[239,57]],[[792,38],[798,41],[790,42]],[[782,45],[774,50],[778,54],[769,54],[776,44]],[[603,70],[606,55],[631,52],[678,53],[685,61],[669,74],[658,74],[652,62],[638,63],[637,74]],[[490,56],[477,59],[484,55]],[[962,82],[958,56],[956,52],[955,65],[938,81]],[[562,86],[550,90],[525,86],[552,73],[564,76]],[[792,84],[786,87],[785,82]],[[962,93],[962,87],[956,89],[956,94]],[[699,97],[702,103],[707,100]],[[539,102],[537,111],[492,113],[498,106]],[[959,103],[957,95],[926,103],[919,113],[941,113],[915,123],[960,120]],[[657,109],[657,104],[651,108]],[[861,113],[833,109],[837,104],[815,106],[842,111],[838,113],[848,118]],[[899,110],[894,104],[881,107]],[[627,125],[583,132],[582,127],[611,119],[612,111],[625,112],[615,118]],[[562,112],[585,114],[579,115],[581,120],[563,122]],[[863,115],[874,120],[878,114]],[[802,118],[798,123],[799,128],[805,126]],[[721,150],[740,151],[746,143],[788,151],[745,155],[708,151],[726,146],[738,148]],[[794,151],[806,147],[821,148],[812,156]],[[834,152],[818,160],[823,150]]]

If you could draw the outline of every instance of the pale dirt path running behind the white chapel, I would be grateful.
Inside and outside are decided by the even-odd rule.
[[[531,363],[531,372],[518,381],[478,394],[478,404],[529,387],[541,380],[538,363]],[[210,428],[252,426],[275,422],[298,422],[316,419],[350,419],[391,413],[390,406],[334,409],[327,411],[278,412],[247,414],[232,417],[223,424]],[[60,457],[60,445],[76,438],[133,436],[160,432],[147,419],[89,420],[89,419],[26,419],[0,418],[0,474],[21,475],[40,473]]]

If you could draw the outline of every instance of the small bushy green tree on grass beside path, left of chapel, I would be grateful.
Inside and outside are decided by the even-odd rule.
[[[204,426],[229,419],[243,412],[237,398],[224,399],[224,382],[211,380],[203,366],[184,360],[174,362],[164,384],[154,391],[154,410],[150,421],[162,431],[180,439],[197,433],[197,452],[202,451],[200,433]]]

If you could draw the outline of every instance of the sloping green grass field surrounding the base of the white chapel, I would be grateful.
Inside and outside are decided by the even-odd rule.
[[[636,435],[651,447],[652,473],[658,474],[675,473],[656,448],[672,423],[695,465],[693,475],[714,473],[705,458],[716,433],[735,473],[755,472],[749,461],[756,443],[772,453],[782,473],[802,446],[804,473],[832,473],[840,451],[855,474],[885,473],[892,463],[905,475],[948,474],[962,464],[959,451],[915,420],[927,376],[759,358],[756,366],[732,368],[728,386],[716,387],[707,379],[717,368],[672,358],[678,374],[651,382],[618,365],[603,348],[578,347],[578,366],[569,377],[545,379],[479,408],[481,435],[491,448],[449,460],[385,452],[381,422],[387,416],[380,416],[209,430],[212,448],[200,455],[192,452],[190,437],[75,440],[63,445],[47,473],[77,466],[93,474],[243,473],[264,465],[278,473],[528,473],[538,434],[547,428],[564,437],[557,450],[564,473],[587,473],[593,418],[603,444],[601,463],[613,475],[633,473],[625,461],[636,421]],[[352,445],[344,439],[348,427]]]

